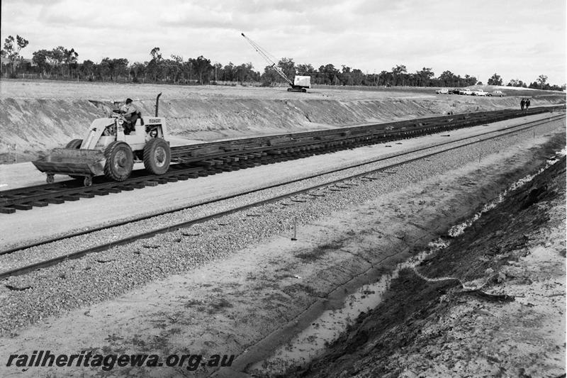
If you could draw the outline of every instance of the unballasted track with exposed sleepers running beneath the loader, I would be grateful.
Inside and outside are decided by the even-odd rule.
[[[560,109],[563,107],[540,107],[523,112],[517,110],[486,111],[179,146],[172,148],[172,161],[176,164],[172,164],[166,174],[152,175],[144,169],[138,169],[123,182],[109,182],[104,177],[95,177],[91,187],[83,187],[81,180],[69,180],[57,184],[0,191],[0,213],[10,214],[15,213],[16,210],[31,210],[34,207],[62,204],[65,201],[78,201],[82,198],[105,196],[120,191],[155,187],[159,184],[196,179],[210,174],[231,172]]]

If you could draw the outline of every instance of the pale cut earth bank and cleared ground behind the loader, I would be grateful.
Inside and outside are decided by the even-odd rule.
[[[440,96],[423,91],[312,89],[298,94],[261,87],[1,80],[0,162],[13,158],[7,145],[16,145],[10,152],[23,161],[82,138],[94,118],[116,109],[114,100],[130,97],[142,115],[153,115],[159,92],[159,115],[167,119],[172,145],[519,106],[515,96]],[[532,98],[532,106],[565,102],[564,94]]]

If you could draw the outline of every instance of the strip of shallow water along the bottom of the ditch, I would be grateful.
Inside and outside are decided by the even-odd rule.
[[[564,155],[563,150],[563,155]],[[556,154],[560,155],[560,153]],[[532,181],[537,174],[543,172],[544,169],[558,162],[558,159],[548,160],[544,168],[539,169],[536,174],[529,174],[522,179],[513,182],[510,186],[501,193],[498,198],[490,201],[483,206],[481,211],[474,214],[466,221],[451,227],[449,236],[454,238],[464,233],[466,228],[470,227],[474,222],[490,209],[495,208],[498,204],[504,201],[510,191],[522,187],[528,182]],[[361,313],[369,311],[371,308],[376,308],[382,301],[383,295],[390,288],[393,279],[396,279],[401,269],[414,268],[429,255],[439,250],[444,250],[450,244],[450,240],[438,238],[427,245],[427,249],[411,257],[409,260],[398,264],[391,274],[383,275],[378,282],[374,284],[366,284],[359,287],[357,292],[348,296],[343,303],[342,308],[337,310],[327,310],[323,312],[314,323],[296,335],[289,343],[279,347],[271,357],[266,360],[256,362],[249,368],[248,372],[251,374],[267,375],[283,374],[291,367],[302,367],[313,358],[318,357],[325,351],[325,348],[330,343],[337,340],[339,335],[347,330],[348,326],[354,323]],[[416,272],[420,275],[418,272]],[[444,280],[447,277],[438,279],[427,279],[430,281]]]

